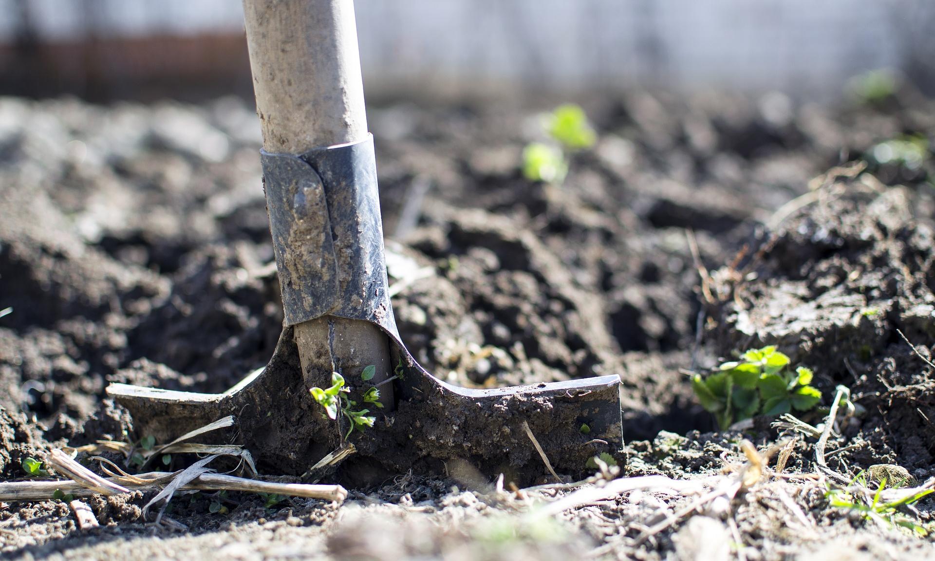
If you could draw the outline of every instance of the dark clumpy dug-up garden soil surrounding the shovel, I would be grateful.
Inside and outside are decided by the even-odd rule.
[[[828,441],[829,468],[935,475],[935,165],[874,150],[935,138],[935,102],[908,90],[833,108],[779,94],[583,99],[597,146],[562,185],[529,182],[522,148],[558,101],[368,109],[396,322],[428,371],[479,388],[616,374],[623,475],[694,480],[740,464],[741,438],[766,451],[790,433],[770,419],[713,432],[684,372],[777,344],[825,396],[802,421],[822,423],[839,384],[858,406]],[[22,459],[52,447],[141,438],[108,382],[217,393],[266,364],[282,312],[258,147],[237,98],[0,99],[0,309],[12,308],[0,479],[22,479]],[[814,443],[798,437],[787,473],[813,473]],[[266,477],[279,464],[257,457]],[[506,483],[399,472],[339,507],[180,496],[169,515],[187,531],[144,519],[152,494],[88,499],[92,530],[65,502],[11,502],[0,547],[22,559],[932,554],[928,538],[832,507],[813,480],[759,482],[643,541],[693,497],[635,491],[530,518],[568,492]],[[218,500],[229,511],[210,512]],[[922,523],[931,506],[918,503]]]

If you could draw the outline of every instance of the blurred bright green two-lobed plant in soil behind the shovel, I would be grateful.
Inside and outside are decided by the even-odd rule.
[[[597,135],[584,110],[565,104],[546,115],[542,128],[551,142],[532,142],[523,150],[523,177],[560,183],[568,174],[569,154],[594,146]]]

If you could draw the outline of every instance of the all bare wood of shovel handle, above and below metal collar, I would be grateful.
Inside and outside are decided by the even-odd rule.
[[[263,148],[302,154],[367,137],[352,0],[243,0],[247,46]],[[354,377],[376,367],[371,383],[390,377],[388,339],[375,324],[323,316],[295,325],[306,381],[331,372]],[[381,388],[386,410],[393,386]]]

